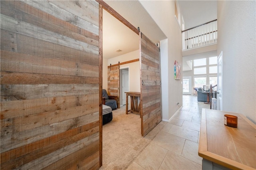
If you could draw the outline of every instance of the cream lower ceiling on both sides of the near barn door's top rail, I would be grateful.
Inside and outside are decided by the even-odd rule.
[[[140,27],[140,31],[154,43],[166,39],[162,30],[138,0],[106,0],[105,2],[134,27]],[[104,58],[109,59],[139,49],[139,36],[106,11],[103,12],[102,31]],[[122,52],[116,52],[118,49]]]

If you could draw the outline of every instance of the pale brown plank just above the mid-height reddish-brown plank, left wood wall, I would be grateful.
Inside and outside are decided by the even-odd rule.
[[[98,70],[98,65],[1,50],[1,71],[98,77]]]

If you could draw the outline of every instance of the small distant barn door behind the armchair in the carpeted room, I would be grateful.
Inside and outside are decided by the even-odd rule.
[[[108,67],[108,95],[118,96],[117,107],[120,108],[119,102],[119,65]]]

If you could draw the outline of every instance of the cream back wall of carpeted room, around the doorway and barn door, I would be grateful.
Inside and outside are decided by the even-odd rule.
[[[124,55],[120,55],[118,57],[108,59],[107,64],[103,66],[103,73],[106,72],[106,79],[103,80],[102,86],[108,89],[108,65],[118,64],[118,61],[122,63],[125,61],[138,59],[140,57],[139,55],[140,55],[139,50],[136,50],[130,53],[126,53]],[[140,92],[140,61],[120,65],[120,69],[127,68],[127,67],[129,68],[130,91]]]

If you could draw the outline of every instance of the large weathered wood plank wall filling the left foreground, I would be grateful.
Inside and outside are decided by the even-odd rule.
[[[98,169],[98,2],[0,6],[1,169]]]

